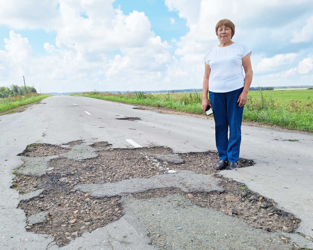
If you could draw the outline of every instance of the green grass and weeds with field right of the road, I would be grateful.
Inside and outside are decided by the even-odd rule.
[[[85,92],[72,95],[171,108],[204,115],[201,109],[202,93],[113,94]],[[244,108],[243,120],[313,132],[313,100],[311,97],[313,97],[313,90],[250,91],[248,102]]]

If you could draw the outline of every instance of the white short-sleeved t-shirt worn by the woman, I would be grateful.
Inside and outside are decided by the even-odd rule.
[[[244,87],[242,58],[251,50],[238,42],[207,51],[204,61],[210,66],[209,91],[224,93]]]

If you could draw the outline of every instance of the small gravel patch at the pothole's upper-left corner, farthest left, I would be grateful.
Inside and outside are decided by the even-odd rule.
[[[52,145],[47,143],[33,143],[18,154],[18,156],[41,157],[49,155],[58,155],[69,151],[70,148],[62,148],[61,145]]]

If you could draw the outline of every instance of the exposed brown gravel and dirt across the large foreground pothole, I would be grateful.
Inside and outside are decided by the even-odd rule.
[[[82,141],[64,145],[71,147],[80,143]],[[219,171],[215,169],[215,164],[218,162],[216,152],[177,154],[185,160],[185,163],[175,165],[154,159],[156,154],[173,153],[167,147],[112,149],[108,142],[98,142],[91,146],[100,149],[99,156],[95,159],[77,162],[68,158],[56,158],[48,163],[48,168],[53,169],[41,177],[18,174],[14,178],[12,187],[21,194],[44,189],[38,197],[22,201],[18,206],[25,210],[27,218],[38,212],[49,211],[47,222],[25,225],[28,226],[29,231],[49,234],[55,237],[59,246],[67,245],[83,232],[90,232],[118,220],[124,211],[118,203],[121,197],[94,198],[88,193],[73,190],[74,185],[149,178],[163,174],[167,169],[187,169],[220,178],[220,185],[225,192],[184,193],[177,189],[154,189],[133,195],[136,198],[146,199],[173,193],[181,194],[198,206],[217,209],[270,232],[283,230],[294,232],[299,225],[299,220],[292,214],[277,209],[272,200],[251,192],[243,183],[219,175]],[[62,148],[60,145],[31,144],[23,154],[27,153],[28,157],[39,157],[52,153],[59,154],[66,150],[69,148]],[[251,160],[239,160],[241,167],[249,167],[252,164]],[[229,199],[237,202],[230,202]]]

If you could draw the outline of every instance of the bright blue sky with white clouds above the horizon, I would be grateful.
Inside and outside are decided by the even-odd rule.
[[[224,18],[252,50],[252,87],[313,85],[312,0],[0,0],[0,86],[202,88]]]

